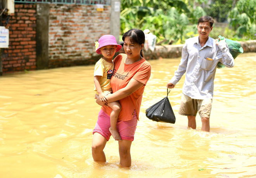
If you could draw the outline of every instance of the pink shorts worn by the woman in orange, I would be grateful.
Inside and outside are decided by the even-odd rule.
[[[136,113],[134,114],[133,118],[129,121],[117,121],[117,130],[122,140],[133,141],[137,122],[138,120]],[[111,136],[109,128],[110,117],[106,114],[106,112],[102,111],[101,109],[99,112],[97,123],[92,133],[94,134],[95,132],[98,132],[100,135],[105,137],[107,141],[109,141],[109,138]]]

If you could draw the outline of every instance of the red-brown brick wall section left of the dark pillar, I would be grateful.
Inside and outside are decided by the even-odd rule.
[[[9,48],[3,50],[3,73],[36,69],[36,5],[16,4],[10,15]]]

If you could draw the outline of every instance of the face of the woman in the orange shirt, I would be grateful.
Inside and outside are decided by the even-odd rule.
[[[140,51],[144,47],[144,44],[139,45],[138,43],[132,43],[130,41],[130,37],[126,37],[124,41],[124,50],[127,54],[127,57],[130,59],[138,59],[141,58]]]

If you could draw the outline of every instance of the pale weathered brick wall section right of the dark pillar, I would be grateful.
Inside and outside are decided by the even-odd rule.
[[[93,64],[95,41],[110,34],[110,6],[50,5],[49,68]]]

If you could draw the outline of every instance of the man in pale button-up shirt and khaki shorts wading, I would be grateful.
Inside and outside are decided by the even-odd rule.
[[[213,29],[213,18],[200,17],[197,23],[199,36],[186,40],[182,48],[182,59],[167,88],[174,88],[186,72],[182,89],[179,114],[188,117],[188,126],[196,128],[195,116],[199,113],[202,131],[210,131],[210,114],[213,101],[213,81],[218,62],[234,67],[234,58],[224,40],[209,37]],[[220,40],[220,41],[218,41]]]

